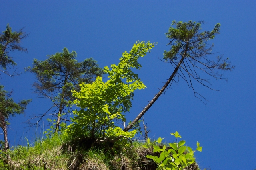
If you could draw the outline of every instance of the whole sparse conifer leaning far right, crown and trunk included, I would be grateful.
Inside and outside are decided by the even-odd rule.
[[[227,80],[224,78],[221,71],[232,70],[234,68],[234,66],[227,62],[228,58],[222,59],[222,56],[214,58],[209,57],[209,55],[213,54],[213,44],[208,43],[208,41],[220,33],[220,24],[217,23],[212,31],[200,31],[202,29],[202,23],[204,23],[204,21],[197,23],[193,21],[172,21],[172,25],[175,25],[176,28],[170,27],[169,31],[166,33],[166,37],[170,39],[167,45],[171,45],[171,49],[170,51],[164,51],[164,59],[174,66],[174,71],[158,94],[154,96],[124,131],[131,129],[154,102],[156,102],[159,96],[168,89],[168,86],[171,85],[172,82],[178,82],[180,78],[188,83],[188,86],[192,88],[196,97],[203,100],[205,100],[205,98],[198,94],[193,86],[193,82],[198,82],[210,88],[210,82],[208,79],[203,78],[202,74],[216,79]]]

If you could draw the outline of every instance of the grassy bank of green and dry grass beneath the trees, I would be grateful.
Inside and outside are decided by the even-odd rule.
[[[133,141],[128,147],[74,146],[66,135],[38,139],[33,145],[17,146],[0,154],[0,170],[155,170],[156,164],[146,158],[152,148]],[[198,170],[195,164],[193,170]]]

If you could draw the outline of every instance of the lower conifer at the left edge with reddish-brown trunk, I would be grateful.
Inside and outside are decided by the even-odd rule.
[[[8,93],[4,90],[4,86],[0,85],[0,127],[4,132],[4,150],[9,148],[7,138],[7,125],[10,117],[14,117],[16,114],[23,114],[26,106],[31,100],[22,100],[18,104],[10,98],[12,92]]]

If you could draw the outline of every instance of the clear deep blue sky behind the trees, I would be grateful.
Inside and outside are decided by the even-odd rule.
[[[212,80],[212,91],[199,85],[196,90],[209,102],[204,105],[194,97],[184,81],[172,85],[144,115],[150,137],[165,137],[178,131],[188,146],[196,149],[196,141],[203,146],[196,152],[200,168],[212,170],[252,170],[256,168],[256,2],[254,0],[169,0],[169,1],[19,1],[1,0],[0,31],[7,23],[13,30],[30,33],[22,41],[28,53],[12,53],[20,72],[32,66],[34,58],[45,60],[46,55],[61,52],[64,47],[76,51],[78,61],[92,57],[100,67],[117,64],[122,52],[129,51],[137,41],[158,42],[146,57],[139,60],[142,69],[136,71],[145,90],[135,92],[128,120],[133,120],[148,100],[154,97],[173,71],[163,57],[172,20],[200,21],[203,30],[221,24],[221,34],[212,41],[214,52],[228,57],[236,66],[226,72],[228,82]],[[215,56],[212,56],[215,57]],[[12,70],[9,70],[10,72]],[[35,129],[24,123],[34,113],[44,113],[50,102],[37,98],[30,73],[10,78],[1,74],[0,84],[14,90],[16,102],[32,99],[26,113],[10,121],[8,138],[11,145],[35,137]],[[3,138],[1,136],[1,138]]]

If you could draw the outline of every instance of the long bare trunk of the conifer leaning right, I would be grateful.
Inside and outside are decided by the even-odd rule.
[[[156,94],[156,96],[154,96],[154,98],[148,103],[148,105],[140,112],[140,114],[138,114],[138,116],[132,121],[132,123],[130,123],[126,128],[124,128],[124,131],[128,131],[130,130],[133,125],[138,122],[139,119],[142,118],[142,116],[148,111],[148,109],[154,104],[154,102],[156,102],[156,100],[160,97],[160,95],[164,92],[164,90],[168,87],[168,85],[170,84],[170,82],[173,80],[175,74],[178,72],[180,65],[182,64],[186,53],[187,53],[187,46],[186,45],[186,49],[184,51],[184,54],[182,56],[182,58],[180,59],[180,62],[178,63],[178,65],[176,66],[176,68],[174,69],[174,71],[172,72],[172,75],[170,76],[170,78],[167,80],[167,82],[164,84],[164,86],[161,88],[161,90]]]

